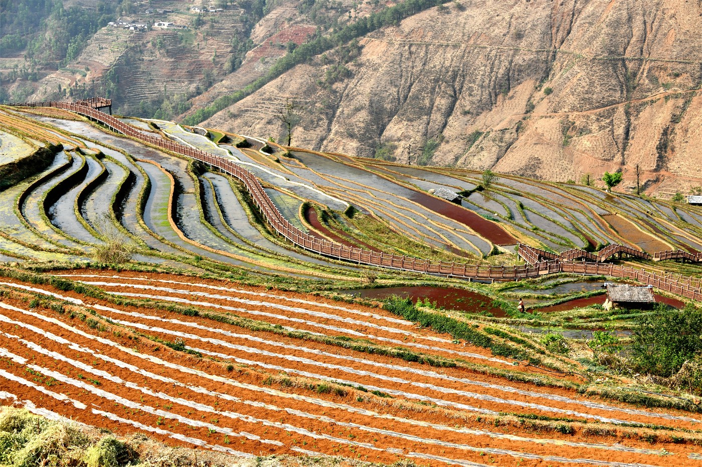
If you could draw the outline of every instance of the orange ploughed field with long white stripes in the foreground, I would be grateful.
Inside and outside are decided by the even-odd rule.
[[[451,347],[463,348],[382,310],[227,287],[213,280],[190,283],[186,290],[177,279],[121,275],[110,277],[110,282],[88,282],[106,291],[138,285],[164,297],[199,289],[201,299],[218,295],[247,308],[274,309],[280,316],[307,313],[314,319],[351,320],[347,323],[355,327],[409,333],[411,339],[433,341],[447,356]],[[161,287],[164,283],[183,289]],[[502,412],[576,417],[590,421],[584,426],[616,433],[625,422],[694,429],[702,423],[694,414],[597,402],[573,391],[537,389],[465,367],[437,369],[49,286],[2,285],[18,292],[5,292],[0,302],[0,403],[48,411],[50,417],[70,417],[117,431],[147,431],[171,443],[239,456],[297,452],[380,462],[409,457],[432,465],[465,466],[641,467],[697,462],[684,444],[651,445],[623,436],[613,444],[611,436],[596,430],[583,442],[563,434],[567,431],[533,433],[528,424],[503,431],[499,424],[491,429],[482,420],[498,419]],[[218,293],[202,292],[208,289]],[[44,304],[29,309],[21,299],[27,293],[62,299],[65,311]],[[77,307],[84,307],[86,314],[81,316]],[[173,341],[204,358],[162,344]],[[476,360],[504,365],[499,359]],[[559,456],[552,455],[555,446]]]

